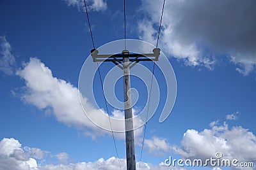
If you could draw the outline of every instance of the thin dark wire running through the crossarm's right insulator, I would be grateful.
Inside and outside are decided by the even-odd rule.
[[[159,24],[159,31],[158,31],[158,36],[157,36],[156,48],[157,48],[157,46],[158,46],[159,34],[160,34],[160,31],[161,31],[161,24],[162,24],[162,19],[163,19],[163,12],[164,12],[164,4],[165,4],[165,0],[164,0],[164,2],[163,2],[163,9],[162,9],[161,20],[160,20],[160,24]],[[141,159],[142,159],[143,146],[144,146],[145,134],[146,134],[146,129],[147,129],[148,111],[149,111],[149,104],[150,104],[150,98],[151,98],[151,91],[152,91],[152,83],[153,83],[153,77],[154,77],[155,66],[156,66],[156,62],[154,61],[154,66],[153,66],[153,70],[152,70],[152,78],[151,78],[150,91],[149,91],[149,96],[148,96],[149,99],[148,99],[147,117],[146,117],[146,123],[145,123],[145,128],[144,128],[144,133],[143,133],[143,141],[142,141],[141,153],[140,153],[140,163],[141,163]],[[140,169],[140,163],[139,163],[139,169]]]

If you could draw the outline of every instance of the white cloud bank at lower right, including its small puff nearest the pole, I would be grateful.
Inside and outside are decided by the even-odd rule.
[[[221,152],[223,159],[237,159],[239,162],[254,162],[255,164],[255,134],[241,126],[228,128],[228,124],[225,122],[223,125],[218,124],[218,121],[212,122],[211,129],[203,131],[188,129],[180,141],[180,146],[172,145],[168,143],[167,139],[156,136],[146,139],[144,145],[148,152],[160,156],[178,153],[184,160],[202,159],[204,161],[211,157],[216,158],[216,153]],[[248,167],[248,169],[252,168]]]

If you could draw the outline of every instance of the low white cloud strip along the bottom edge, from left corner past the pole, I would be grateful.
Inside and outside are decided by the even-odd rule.
[[[31,154],[31,150],[36,150],[38,154]],[[100,158],[95,162],[76,162],[76,163],[67,163],[63,164],[63,160],[66,161],[68,159],[68,155],[65,152],[61,152],[55,155],[61,162],[54,164],[51,163],[51,160],[47,161],[47,164],[38,164],[36,160],[40,160],[43,158],[41,153],[50,154],[50,152],[42,151],[40,148],[29,148],[26,146],[22,148],[22,145],[17,139],[13,138],[4,138],[0,141],[0,169],[4,170],[13,170],[13,169],[20,169],[20,170],[59,170],[59,169],[102,169],[102,170],[110,170],[110,169],[126,169],[126,159],[119,159],[120,166],[118,159],[116,157],[111,157],[109,159],[104,160]],[[22,155],[22,159],[20,159],[20,155]],[[27,156],[29,155],[29,156]],[[51,155],[52,157],[52,155]],[[153,169],[153,170],[162,170],[168,169],[164,166],[163,162],[159,165],[154,166],[152,164],[146,162],[137,162],[137,167],[140,169]]]

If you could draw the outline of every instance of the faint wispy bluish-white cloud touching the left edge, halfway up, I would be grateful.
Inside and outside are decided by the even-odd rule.
[[[12,55],[12,46],[6,40],[5,36],[0,36],[0,71],[5,74],[13,74],[13,66],[15,65],[15,58]]]

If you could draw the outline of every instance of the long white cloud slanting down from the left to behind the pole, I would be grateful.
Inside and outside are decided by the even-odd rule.
[[[100,135],[110,134],[110,132],[97,127],[84,115],[84,111],[86,111],[86,114],[90,115],[90,117],[97,117],[100,124],[110,125],[108,113],[105,113],[102,109],[94,108],[90,101],[80,94],[82,96],[80,99],[81,103],[83,103],[83,111],[77,87],[65,80],[52,76],[51,69],[39,59],[31,58],[28,63],[24,64],[24,68],[17,71],[17,75],[26,82],[26,87],[22,94],[24,102],[33,104],[40,110],[51,110],[51,113],[54,114],[59,122],[82,129],[84,134],[92,136],[93,139]],[[102,117],[102,114],[105,117]],[[112,115],[115,118],[124,117],[124,113],[118,110],[113,111]],[[136,124],[136,121],[134,124]],[[114,126],[122,129],[124,128],[124,123],[113,124],[113,128]],[[139,136],[141,132],[142,129],[135,131],[136,136]],[[124,137],[124,133],[116,133],[115,135],[120,138]]]

